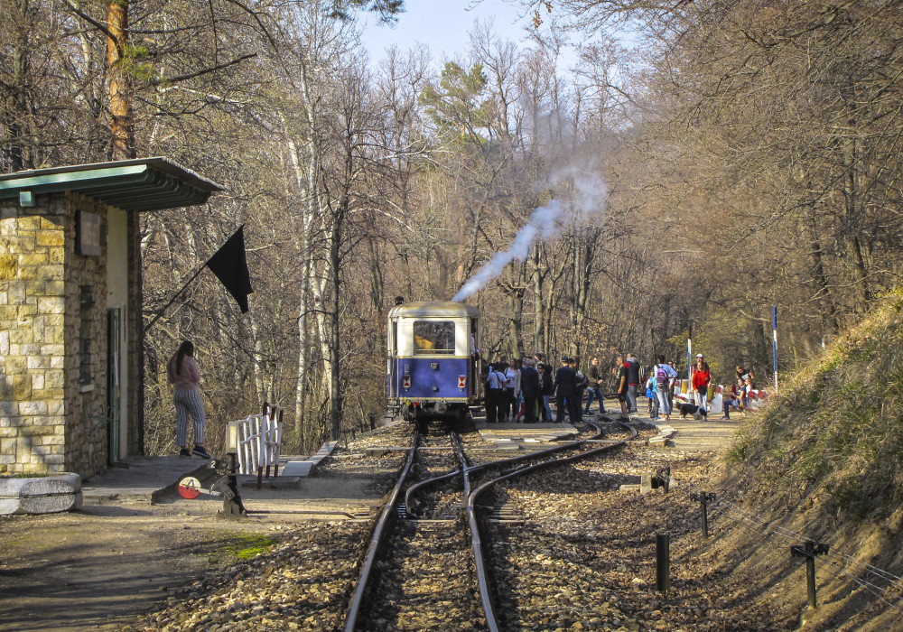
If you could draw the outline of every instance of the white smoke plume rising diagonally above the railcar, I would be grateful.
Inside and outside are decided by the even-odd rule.
[[[605,182],[585,168],[568,165],[558,172],[554,172],[549,178],[548,186],[555,186],[563,181],[570,180],[573,183],[573,200],[563,201],[553,199],[545,206],[535,209],[526,224],[517,231],[514,241],[507,250],[496,253],[461,286],[452,297],[452,301],[461,302],[486,287],[492,279],[502,274],[505,266],[512,261],[523,262],[530,254],[530,248],[536,237],[551,239],[557,237],[565,223],[573,219],[577,223],[584,223],[593,218],[598,218],[605,209],[605,199],[608,197],[608,188]]]

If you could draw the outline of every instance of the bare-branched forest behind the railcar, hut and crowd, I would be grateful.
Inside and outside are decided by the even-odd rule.
[[[773,379],[773,306],[787,375],[898,286],[898,2],[509,1],[522,41],[377,65],[363,18],[401,0],[0,0],[0,171],[163,155],[225,188],[144,214],[145,321],[245,226],[250,311],[201,274],[147,332],[148,454],[182,339],[211,419],[279,404],[298,451],[369,427],[396,296],[499,253],[461,299],[484,357],[680,364],[692,326],[717,382]]]

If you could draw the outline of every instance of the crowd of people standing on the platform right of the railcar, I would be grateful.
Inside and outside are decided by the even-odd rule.
[[[649,416],[670,420],[675,410],[675,386],[678,384],[676,364],[674,360],[666,361],[664,355],[656,359],[656,364],[644,371],[639,359],[632,353],[615,358],[611,373],[615,379],[614,396],[618,400],[622,420],[627,420],[631,413],[638,413],[640,385],[646,386]],[[524,358],[503,357],[491,364],[483,364],[483,379],[487,423],[563,423],[565,417],[576,423],[582,421],[583,415],[591,414],[594,402],[599,403],[599,414],[606,412],[602,393],[606,376],[600,369],[598,357],[591,358],[586,373],[578,366],[577,358],[567,356],[561,358],[559,367],[545,363],[541,353]],[[711,386],[712,371],[703,354],[697,354],[696,362],[690,369],[687,394],[681,395],[687,401],[678,404],[680,414],[693,414],[697,419],[707,418],[712,404],[709,399]],[[731,393],[722,396],[721,419],[730,419],[731,409],[745,415],[756,399],[756,393],[752,371],[738,366]]]

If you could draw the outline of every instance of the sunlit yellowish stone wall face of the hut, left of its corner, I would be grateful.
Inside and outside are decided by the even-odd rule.
[[[65,468],[66,204],[0,203],[0,472]]]

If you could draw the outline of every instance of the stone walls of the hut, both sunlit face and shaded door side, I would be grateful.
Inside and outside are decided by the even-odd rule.
[[[107,258],[76,255],[75,214],[107,207],[35,201],[0,203],[0,472],[88,478],[107,465]]]

